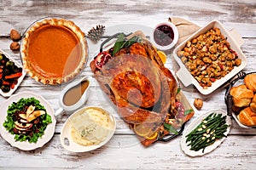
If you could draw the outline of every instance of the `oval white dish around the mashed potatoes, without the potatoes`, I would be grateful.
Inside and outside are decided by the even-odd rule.
[[[71,119],[73,119],[74,116],[80,114],[83,111],[86,111],[89,108],[96,108],[100,109],[104,112],[108,113],[109,119],[111,121],[111,129],[108,130],[108,135],[107,138],[102,141],[100,144],[95,144],[95,145],[90,145],[90,146],[84,146],[77,144],[73,142],[72,136],[71,136],[71,129],[72,129],[72,122]],[[64,123],[62,130],[61,130],[61,145],[68,151],[71,152],[86,152],[90,150],[96,150],[97,148],[102,147],[102,145],[107,144],[108,141],[113,137],[113,133],[115,132],[116,129],[116,121],[114,117],[106,110],[102,109],[101,107],[98,106],[90,106],[90,107],[83,107],[79,109],[78,111],[75,111],[71,116],[68,117],[67,121]]]

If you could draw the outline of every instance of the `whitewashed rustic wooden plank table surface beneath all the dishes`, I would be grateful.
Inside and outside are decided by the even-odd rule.
[[[104,25],[107,30],[113,26],[136,24],[152,27],[161,21],[175,16],[204,26],[211,20],[219,20],[227,30],[236,28],[244,40],[241,50],[247,57],[244,71],[256,70],[256,2],[252,0],[210,0],[210,1],[3,1],[0,0],[0,48],[20,61],[20,54],[9,49],[12,42],[9,31],[16,29],[24,32],[33,21],[43,17],[58,16],[73,20],[82,31],[87,32],[96,25]],[[129,26],[128,26],[129,27]],[[105,36],[111,32],[106,31]],[[102,39],[100,42],[102,42]],[[99,51],[100,42],[89,42],[90,59]],[[174,71],[176,63],[171,51],[167,52],[167,67]],[[89,61],[90,61],[89,59]],[[87,63],[79,77],[92,76]],[[79,78],[77,77],[77,78]],[[56,111],[62,86],[49,86],[36,82],[26,75],[15,94],[31,91],[42,94]],[[145,148],[139,144],[136,136],[119,118],[96,81],[91,87],[90,99],[85,105],[100,105],[111,111],[117,119],[117,130],[108,144],[99,149],[72,153],[65,150],[60,143],[63,123],[71,114],[64,112],[57,117],[54,137],[44,147],[32,151],[22,151],[12,147],[0,138],[0,169],[59,168],[59,169],[254,169],[256,166],[256,130],[242,129],[236,122],[224,143],[211,153],[200,157],[186,156],[180,148],[181,136],[168,143],[156,143]],[[183,89],[183,94],[190,104],[201,97],[204,105],[200,116],[211,109],[226,110],[224,88],[219,88],[210,95],[201,95],[196,90]],[[0,97],[0,104],[7,98]],[[194,119],[193,118],[193,119]],[[190,121],[191,122],[191,121]],[[1,125],[2,126],[2,125]]]

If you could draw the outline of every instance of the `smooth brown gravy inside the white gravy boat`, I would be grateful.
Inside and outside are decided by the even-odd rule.
[[[84,94],[84,91],[89,86],[89,81],[84,80],[83,82],[77,84],[73,88],[67,90],[66,94],[64,94],[63,103],[64,105],[75,105],[79,99]]]

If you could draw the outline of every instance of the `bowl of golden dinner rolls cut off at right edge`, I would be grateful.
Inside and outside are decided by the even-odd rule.
[[[225,95],[228,113],[241,127],[256,127],[256,72],[236,79]]]

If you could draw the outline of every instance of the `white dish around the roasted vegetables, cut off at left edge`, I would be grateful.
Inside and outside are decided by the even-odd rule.
[[[26,76],[26,71],[24,70],[23,66],[20,65],[20,63],[18,63],[15,59],[11,58],[9,56],[9,54],[5,53],[2,49],[0,49],[0,54],[4,54],[7,58],[9,58],[9,60],[13,61],[15,63],[15,65],[17,65],[18,67],[22,68],[22,75],[21,77],[18,78],[18,83],[15,84],[15,88],[10,89],[10,91],[8,93],[4,93],[1,89],[0,89],[0,94],[3,95],[3,97],[9,97],[11,96],[15,90],[20,86],[20,83],[23,81],[24,77]]]

